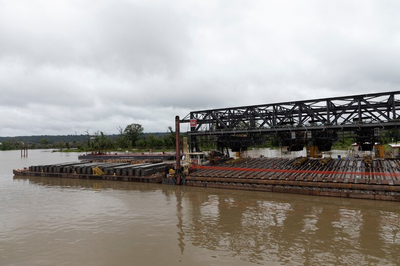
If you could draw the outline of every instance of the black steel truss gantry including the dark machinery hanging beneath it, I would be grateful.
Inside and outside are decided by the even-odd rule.
[[[213,136],[218,146],[245,150],[275,135],[289,150],[307,143],[330,150],[337,133],[353,131],[361,145],[374,141],[381,129],[400,124],[400,91],[306,101],[272,103],[190,112],[180,123],[192,121],[191,148],[197,137]],[[326,146],[326,147],[324,147]]]

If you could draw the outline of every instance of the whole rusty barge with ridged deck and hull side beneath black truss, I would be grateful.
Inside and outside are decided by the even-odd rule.
[[[400,201],[399,160],[238,159],[194,166],[187,186]]]

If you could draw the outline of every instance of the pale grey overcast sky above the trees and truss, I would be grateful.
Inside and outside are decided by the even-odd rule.
[[[0,136],[400,90],[400,1],[0,0]],[[186,131],[186,125],[181,125]]]

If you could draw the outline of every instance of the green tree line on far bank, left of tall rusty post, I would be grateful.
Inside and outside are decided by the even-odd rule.
[[[141,124],[130,124],[125,128],[118,126],[118,134],[107,135],[103,131],[90,132],[89,128],[81,135],[59,136],[20,136],[0,137],[0,150],[21,149],[174,149],[175,132],[169,126],[166,132],[144,133]]]

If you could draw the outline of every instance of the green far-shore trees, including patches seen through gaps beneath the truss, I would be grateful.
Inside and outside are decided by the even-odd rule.
[[[108,135],[103,131],[91,132],[85,130],[85,134],[81,135],[64,135],[64,136],[19,136],[19,137],[0,137],[0,150],[20,150],[27,149],[53,149],[53,152],[86,152],[86,151],[114,151],[114,152],[163,152],[175,150],[175,131],[169,126],[166,132],[144,133],[141,124],[130,124],[125,128],[116,127],[118,134]],[[386,144],[385,148],[389,149],[387,143],[391,143],[395,132],[389,130],[387,134],[381,136],[382,143]],[[181,141],[183,137],[187,137],[187,132],[181,133]],[[343,136],[343,137],[342,137]],[[348,149],[355,143],[354,135],[351,132],[344,132],[337,142],[332,145],[333,149]],[[197,137],[199,148],[201,150],[217,149],[214,140],[210,136]],[[281,143],[278,140],[266,140],[261,145],[250,145],[248,149],[254,148],[270,148],[279,149]]]

